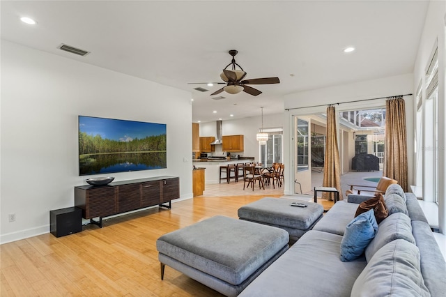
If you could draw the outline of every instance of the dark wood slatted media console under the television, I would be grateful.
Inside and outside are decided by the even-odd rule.
[[[109,185],[75,187],[75,206],[82,209],[82,218],[102,227],[102,218],[148,206],[171,208],[171,200],[180,198],[180,179],[156,176]],[[169,203],[168,205],[165,205]],[[99,218],[99,222],[93,218]]]

